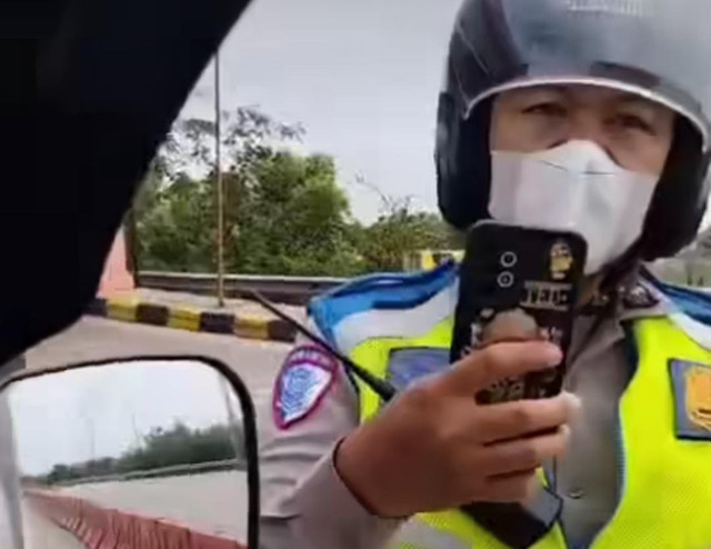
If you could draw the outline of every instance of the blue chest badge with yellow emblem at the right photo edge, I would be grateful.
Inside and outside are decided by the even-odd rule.
[[[672,360],[670,368],[677,407],[677,437],[711,440],[711,366]]]

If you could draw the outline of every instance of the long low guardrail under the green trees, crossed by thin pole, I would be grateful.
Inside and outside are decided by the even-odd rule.
[[[210,273],[141,271],[138,280],[141,288],[206,296],[213,296],[217,287],[217,274]],[[271,301],[302,306],[314,296],[347,281],[344,278],[330,277],[228,274],[224,277],[224,295],[227,298],[249,298],[250,292],[256,290]]]

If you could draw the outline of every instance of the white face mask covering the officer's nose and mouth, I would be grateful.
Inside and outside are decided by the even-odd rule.
[[[620,168],[592,141],[535,153],[493,151],[491,159],[491,217],[581,234],[585,274],[619,259],[642,234],[659,179]]]

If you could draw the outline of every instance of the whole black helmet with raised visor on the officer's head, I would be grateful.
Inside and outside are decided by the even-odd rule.
[[[711,1],[465,0],[439,101],[440,209],[454,227],[489,217],[492,98],[585,83],[638,93],[682,114],[639,254],[672,256],[705,211],[711,136]]]

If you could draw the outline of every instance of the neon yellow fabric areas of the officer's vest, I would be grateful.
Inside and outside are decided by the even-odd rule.
[[[351,349],[350,358],[381,379],[388,376],[390,353],[404,348],[449,348],[452,319],[441,321],[421,337],[370,339]],[[639,361],[620,401],[620,465],[622,498],[612,520],[592,541],[591,549],[707,549],[711,548],[711,441],[675,437],[674,397],[669,373],[671,359],[711,363],[711,353],[667,318],[633,325]],[[361,421],[378,413],[380,398],[360,385]],[[503,543],[458,510],[422,513],[415,527],[427,525],[433,536],[421,541],[407,533],[401,549],[507,549]],[[422,531],[422,530],[417,530]],[[442,537],[440,537],[442,536]],[[447,537],[444,537],[447,536]],[[427,539],[425,539],[427,538]],[[564,549],[555,527],[534,549]]]

